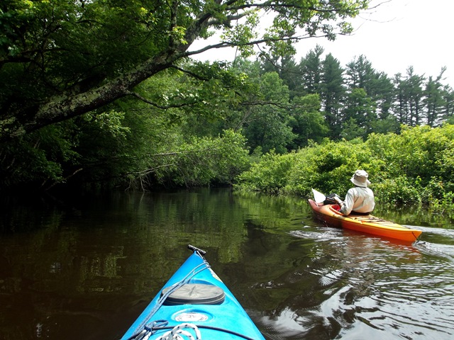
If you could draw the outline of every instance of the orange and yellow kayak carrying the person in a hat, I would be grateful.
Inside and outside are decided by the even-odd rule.
[[[365,232],[367,234],[401,239],[403,241],[414,242],[421,235],[422,231],[410,229],[394,222],[382,220],[373,215],[355,215],[354,213],[345,216],[333,208],[333,204],[316,203],[309,200],[312,210],[316,217],[331,227],[342,227],[345,229]]]

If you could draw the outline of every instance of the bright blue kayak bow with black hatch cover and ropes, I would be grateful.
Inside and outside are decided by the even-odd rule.
[[[205,251],[193,254],[167,281],[121,340],[265,340],[230,290],[211,270]]]

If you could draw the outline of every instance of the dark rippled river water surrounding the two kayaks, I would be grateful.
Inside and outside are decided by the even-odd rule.
[[[454,339],[453,220],[375,215],[421,240],[325,227],[304,198],[228,189],[4,197],[0,339],[121,338],[187,244],[207,251],[266,339]]]

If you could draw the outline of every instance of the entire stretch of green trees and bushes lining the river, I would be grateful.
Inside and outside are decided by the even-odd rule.
[[[260,37],[246,8],[253,2],[241,10],[238,1],[7,1],[0,191],[234,184],[342,195],[361,168],[382,203],[452,208],[454,91],[445,69],[389,76],[364,55],[341,65],[319,46],[296,60],[293,42],[348,33],[344,19],[368,1],[311,11],[301,11],[304,0],[285,2],[267,8],[277,20]],[[219,44],[190,50],[221,30]],[[233,62],[191,59],[231,46]]]

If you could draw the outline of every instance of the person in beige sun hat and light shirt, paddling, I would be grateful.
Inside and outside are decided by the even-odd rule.
[[[370,185],[367,177],[369,177],[369,174],[364,170],[357,170],[353,174],[350,181],[355,184],[355,187],[348,189],[345,200],[339,202],[343,215],[350,215],[351,212],[368,215],[374,210],[374,193],[370,188],[367,188]]]

